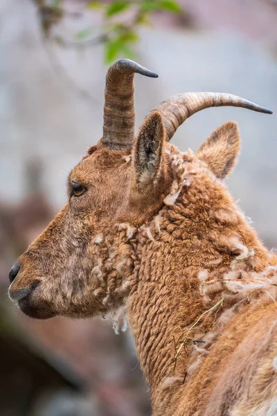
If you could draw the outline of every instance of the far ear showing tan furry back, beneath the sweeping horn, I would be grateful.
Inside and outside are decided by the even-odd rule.
[[[212,132],[196,153],[198,159],[206,162],[208,168],[220,179],[232,171],[239,154],[240,132],[234,121],[229,121]]]

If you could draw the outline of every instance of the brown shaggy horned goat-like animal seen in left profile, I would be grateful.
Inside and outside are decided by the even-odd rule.
[[[237,96],[187,93],[134,135],[129,60],[107,73],[103,137],[73,168],[68,202],[10,271],[9,295],[33,318],[124,309],[155,416],[277,415],[277,257],[222,180],[238,125],[193,153],[170,144],[206,107],[270,113]]]

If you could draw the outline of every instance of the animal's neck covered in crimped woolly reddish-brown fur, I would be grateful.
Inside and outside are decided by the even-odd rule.
[[[222,279],[235,258],[245,260],[244,270],[251,272],[270,263],[269,252],[223,188],[196,175],[175,205],[141,232],[128,314],[153,401],[168,378],[186,377],[193,350],[213,329],[215,315],[218,320],[224,312],[220,288],[205,295],[201,279]]]

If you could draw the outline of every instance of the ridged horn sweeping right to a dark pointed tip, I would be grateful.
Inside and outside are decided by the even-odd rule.
[[[168,100],[163,101],[152,111],[161,113],[167,139],[170,141],[179,125],[184,123],[188,117],[200,110],[204,110],[204,108],[222,107],[224,105],[244,107],[249,108],[249,110],[272,114],[269,108],[260,107],[260,105],[251,103],[251,101],[247,101],[239,96],[222,92],[186,92],[185,94],[168,98]]]

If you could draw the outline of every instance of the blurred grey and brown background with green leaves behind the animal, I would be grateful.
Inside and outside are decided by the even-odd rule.
[[[136,122],[187,91],[229,92],[274,110],[195,114],[173,142],[196,150],[238,121],[227,180],[268,248],[277,245],[277,1],[0,2],[0,415],[150,415],[127,331],[104,320],[26,318],[7,295],[17,256],[66,202],[66,177],[101,137],[107,64],[133,58]]]

